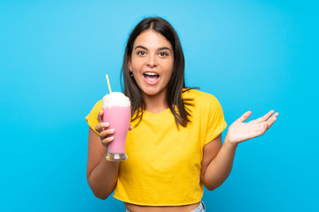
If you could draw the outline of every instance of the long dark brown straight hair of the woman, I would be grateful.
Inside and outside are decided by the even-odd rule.
[[[191,105],[191,102],[189,102],[191,100],[183,100],[182,98],[182,93],[188,90],[183,89],[186,88],[184,79],[185,60],[183,56],[183,49],[175,29],[167,22],[167,20],[161,19],[159,17],[143,19],[139,24],[137,24],[128,37],[128,43],[125,49],[121,68],[121,76],[123,77],[124,81],[124,95],[127,95],[131,101],[132,120],[139,118],[136,125],[141,122],[145,109],[145,102],[142,91],[136,84],[136,80],[129,74],[128,58],[130,58],[132,55],[133,45],[136,37],[148,29],[152,29],[156,33],[163,35],[173,47],[174,65],[171,78],[167,84],[166,97],[168,107],[175,117],[175,123],[177,127],[178,125],[186,126],[190,122],[189,117],[191,116],[186,105]],[[135,116],[133,117],[134,114]]]

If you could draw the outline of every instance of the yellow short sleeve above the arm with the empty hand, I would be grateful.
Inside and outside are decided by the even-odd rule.
[[[207,103],[209,105],[205,145],[214,140],[227,127],[220,102],[211,96],[207,99]]]

